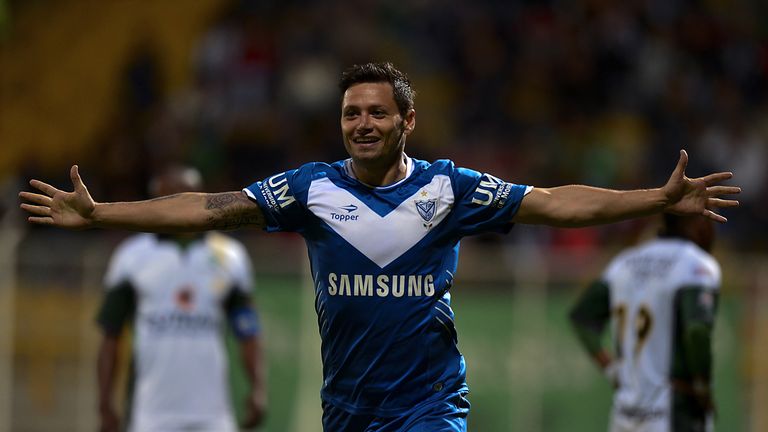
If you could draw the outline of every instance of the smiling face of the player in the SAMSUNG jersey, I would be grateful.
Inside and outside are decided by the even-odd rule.
[[[416,124],[416,112],[405,118],[388,82],[355,84],[341,102],[344,147],[355,168],[388,171],[402,162],[405,138]]]

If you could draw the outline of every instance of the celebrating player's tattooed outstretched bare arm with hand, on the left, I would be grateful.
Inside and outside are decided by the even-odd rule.
[[[146,201],[97,203],[77,169],[70,170],[74,191],[65,192],[39,180],[30,185],[42,193],[21,192],[21,208],[29,222],[69,229],[120,228],[149,232],[227,230],[263,227],[259,206],[243,192],[180,193]]]

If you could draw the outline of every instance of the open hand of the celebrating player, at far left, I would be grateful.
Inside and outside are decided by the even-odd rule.
[[[96,203],[80,178],[77,165],[69,171],[74,186],[73,192],[59,190],[40,180],[29,184],[41,193],[20,192],[19,198],[26,201],[21,209],[30,213],[27,220],[34,224],[50,225],[70,229],[84,229],[93,224]]]

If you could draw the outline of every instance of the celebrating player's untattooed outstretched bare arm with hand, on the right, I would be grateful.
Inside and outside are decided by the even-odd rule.
[[[513,222],[558,227],[581,227],[618,222],[660,212],[701,214],[717,222],[726,219],[715,211],[739,205],[736,200],[718,198],[741,189],[722,186],[729,172],[699,178],[685,176],[688,153],[680,160],[667,183],[655,189],[618,191],[583,185],[534,188],[520,204]]]

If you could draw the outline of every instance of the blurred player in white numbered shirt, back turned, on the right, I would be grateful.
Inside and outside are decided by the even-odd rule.
[[[713,239],[709,219],[665,214],[660,236],[619,254],[574,305],[579,340],[615,386],[610,431],[711,430]]]

